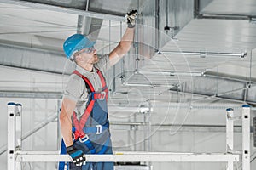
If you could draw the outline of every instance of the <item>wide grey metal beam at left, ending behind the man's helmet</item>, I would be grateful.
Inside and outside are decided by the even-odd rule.
[[[0,51],[2,54],[0,65],[2,66],[60,75],[68,75],[72,72],[68,70],[69,68],[65,68],[67,59],[64,54],[54,54],[47,50],[4,44],[0,44]]]

